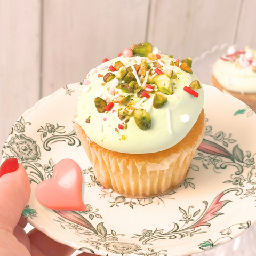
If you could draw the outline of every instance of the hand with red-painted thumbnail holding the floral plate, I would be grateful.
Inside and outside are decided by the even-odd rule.
[[[75,251],[36,229],[25,233],[27,221],[21,213],[29,201],[30,184],[16,158],[0,166],[0,193],[0,256],[69,256]]]

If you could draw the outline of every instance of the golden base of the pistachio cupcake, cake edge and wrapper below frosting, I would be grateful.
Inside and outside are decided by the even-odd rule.
[[[129,198],[160,196],[179,187],[205,130],[202,110],[190,132],[172,148],[150,154],[124,154],[100,147],[77,123],[74,127],[98,181]]]

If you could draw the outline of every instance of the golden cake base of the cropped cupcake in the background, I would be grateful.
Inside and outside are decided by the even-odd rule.
[[[256,94],[253,94],[253,93],[242,94],[242,93],[237,93],[237,92],[231,92],[231,91],[225,89],[213,75],[211,77],[211,84],[214,87],[218,88],[221,92],[232,95],[232,96],[236,97],[237,99],[243,101],[247,106],[249,106],[251,109],[253,109],[254,112],[256,111]]]

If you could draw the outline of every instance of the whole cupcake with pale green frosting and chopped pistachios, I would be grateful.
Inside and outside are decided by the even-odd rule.
[[[185,180],[204,133],[204,91],[191,66],[141,43],[81,82],[75,129],[105,188],[147,198]]]

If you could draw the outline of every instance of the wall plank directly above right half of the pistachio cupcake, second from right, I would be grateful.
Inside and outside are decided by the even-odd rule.
[[[241,0],[152,0],[148,41],[176,58],[232,44]]]

